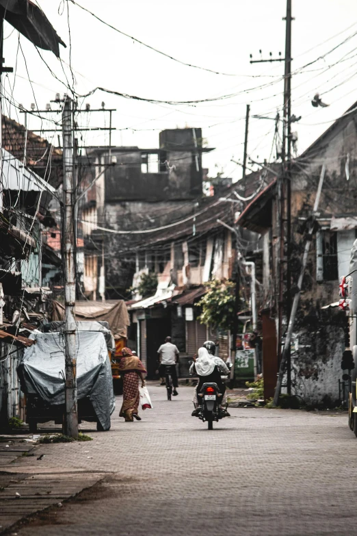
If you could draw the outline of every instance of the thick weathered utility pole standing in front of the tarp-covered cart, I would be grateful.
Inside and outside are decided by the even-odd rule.
[[[74,222],[74,184],[73,184],[73,145],[72,145],[72,99],[64,97],[62,112],[63,138],[63,203],[64,216],[62,225],[64,253],[64,335],[65,335],[65,398],[66,414],[64,433],[78,437],[77,414],[77,348],[75,322],[75,222]]]

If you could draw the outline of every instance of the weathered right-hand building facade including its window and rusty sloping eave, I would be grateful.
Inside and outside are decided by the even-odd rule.
[[[330,307],[339,300],[339,277],[348,272],[349,252],[356,238],[357,112],[354,104],[293,162],[291,174],[291,228],[293,241],[289,259],[292,294],[300,272],[306,222],[313,203],[322,166],[326,166],[319,215],[308,255],[291,355],[292,392],[306,403],[339,399],[341,357],[345,344],[345,314]],[[278,181],[273,181],[246,207],[237,225],[261,233],[263,251],[263,318],[275,320],[278,311],[279,251]],[[287,251],[285,249],[285,255]],[[284,266],[286,289],[287,265]],[[286,303],[287,294],[283,300]],[[283,333],[287,311],[283,314]],[[273,337],[273,324],[267,336]],[[264,326],[263,326],[264,331]],[[275,333],[276,336],[276,333]],[[264,349],[264,340],[263,340]],[[264,350],[263,350],[264,351]],[[272,373],[278,368],[270,346]]]

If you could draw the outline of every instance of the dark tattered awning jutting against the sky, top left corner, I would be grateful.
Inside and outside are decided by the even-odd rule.
[[[49,19],[37,5],[29,0],[0,0],[5,10],[5,21],[40,49],[51,50],[59,58],[59,43],[66,44],[56,34]]]

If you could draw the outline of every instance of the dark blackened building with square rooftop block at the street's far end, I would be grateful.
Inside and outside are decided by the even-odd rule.
[[[202,197],[202,153],[211,151],[202,145],[201,129],[173,129],[160,133],[159,149],[112,147],[82,157],[83,188],[103,172],[79,208],[88,298],[128,296],[137,262],[140,266],[145,262],[140,257],[135,264],[141,231],[145,235],[148,228],[194,214]],[[150,258],[150,263],[155,262],[166,264],[167,260],[158,253],[156,260]]]

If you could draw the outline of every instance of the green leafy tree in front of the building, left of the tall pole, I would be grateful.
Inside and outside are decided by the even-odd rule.
[[[213,279],[207,283],[208,292],[198,303],[201,324],[224,330],[233,329],[235,318],[235,283]]]

